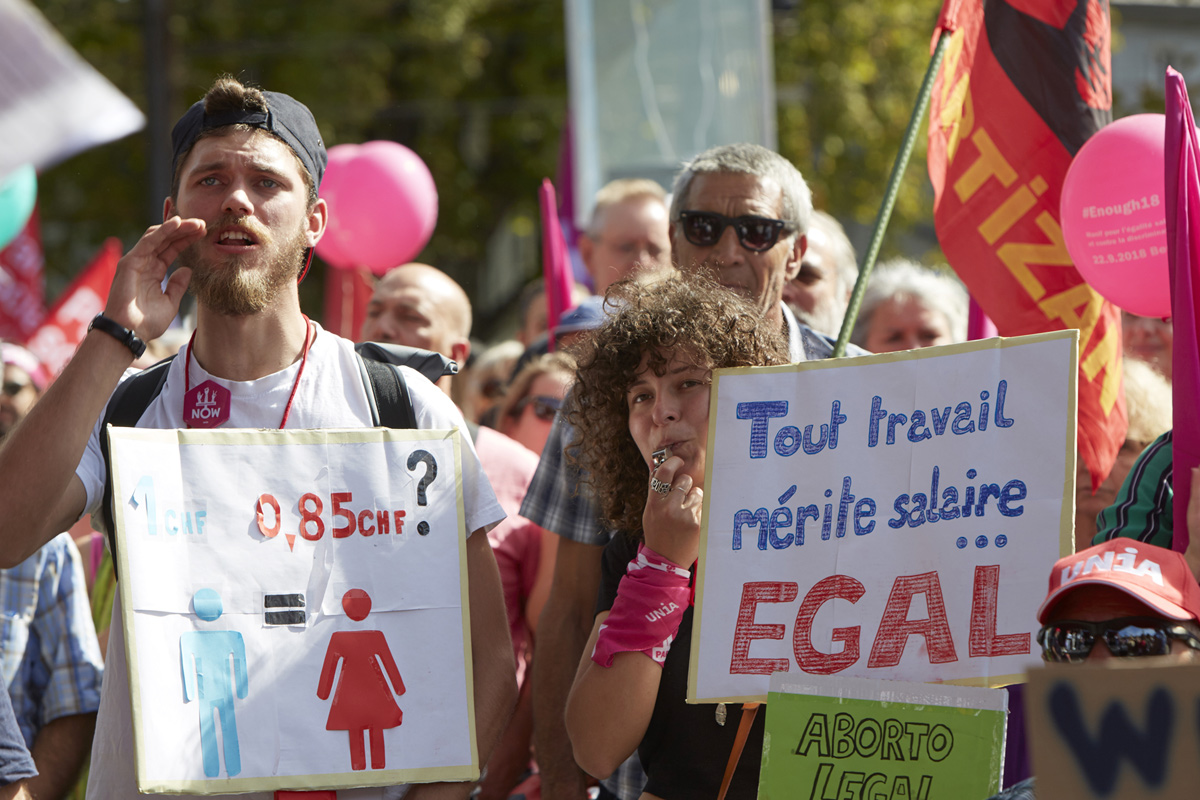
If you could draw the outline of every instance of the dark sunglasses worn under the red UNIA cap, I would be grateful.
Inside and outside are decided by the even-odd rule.
[[[1200,637],[1195,633],[1183,625],[1153,616],[1124,616],[1104,622],[1063,620],[1038,631],[1043,658],[1056,663],[1085,661],[1102,638],[1109,652],[1118,658],[1165,656],[1171,651],[1171,639],[1200,650]]]

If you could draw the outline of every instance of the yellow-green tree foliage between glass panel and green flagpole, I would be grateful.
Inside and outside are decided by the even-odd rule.
[[[844,221],[874,223],[929,66],[941,0],[803,0],[775,17],[779,146]],[[886,251],[932,222],[924,127]]]

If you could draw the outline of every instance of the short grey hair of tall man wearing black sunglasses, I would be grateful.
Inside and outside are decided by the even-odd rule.
[[[678,223],[679,215],[688,209],[692,179],[710,173],[742,173],[775,181],[784,190],[784,221],[794,223],[798,235],[808,233],[812,192],[800,170],[774,150],[746,143],[710,148],[683,166],[671,190],[672,223]]]

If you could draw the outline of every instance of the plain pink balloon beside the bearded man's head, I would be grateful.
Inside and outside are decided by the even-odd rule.
[[[396,142],[340,144],[320,182],[329,204],[317,254],[341,269],[383,275],[413,260],[438,221],[438,190],[420,156]]]

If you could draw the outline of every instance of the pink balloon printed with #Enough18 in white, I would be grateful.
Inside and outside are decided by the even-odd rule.
[[[1067,170],[1062,234],[1084,279],[1142,317],[1171,315],[1163,138],[1166,118],[1135,114],[1104,126]]]

